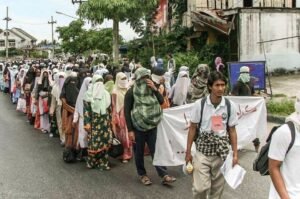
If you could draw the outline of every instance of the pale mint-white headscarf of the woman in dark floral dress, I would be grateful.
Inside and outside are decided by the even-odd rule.
[[[101,75],[93,76],[92,84],[90,84],[84,100],[91,103],[94,113],[107,114],[106,109],[110,106],[111,99],[110,94],[104,88],[103,77]]]

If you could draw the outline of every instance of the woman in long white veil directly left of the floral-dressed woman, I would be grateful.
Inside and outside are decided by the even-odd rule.
[[[75,112],[74,112],[74,118],[73,118],[73,124],[78,122],[78,142],[77,146],[78,148],[81,149],[81,157],[86,157],[87,156],[87,148],[88,148],[88,143],[87,143],[87,132],[84,130],[84,125],[83,125],[83,99],[84,96],[88,90],[88,87],[92,81],[91,77],[86,77],[83,80],[83,83],[81,85],[77,100],[76,100],[76,105],[75,105]],[[75,126],[75,125],[73,125]]]

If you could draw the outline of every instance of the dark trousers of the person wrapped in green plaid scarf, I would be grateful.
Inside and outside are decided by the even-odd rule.
[[[155,153],[155,143],[156,143],[156,134],[157,128],[142,132],[139,130],[134,130],[135,134],[135,144],[133,145],[134,149],[134,158],[135,166],[137,169],[138,175],[146,175],[146,169],[144,166],[144,149],[145,143],[147,143],[151,157],[153,159]],[[155,166],[155,169],[160,177],[167,175],[167,168],[162,166]]]

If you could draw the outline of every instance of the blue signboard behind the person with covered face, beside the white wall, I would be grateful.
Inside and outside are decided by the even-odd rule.
[[[240,68],[242,66],[248,66],[250,69],[251,83],[254,85],[255,90],[264,90],[266,88],[265,78],[265,61],[250,61],[250,62],[229,62],[228,74],[231,89],[236,84],[239,75]]]

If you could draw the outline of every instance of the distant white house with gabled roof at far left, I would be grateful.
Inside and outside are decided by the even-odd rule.
[[[8,48],[31,49],[37,39],[20,28],[8,30]],[[6,30],[0,29],[0,50],[5,50]]]

